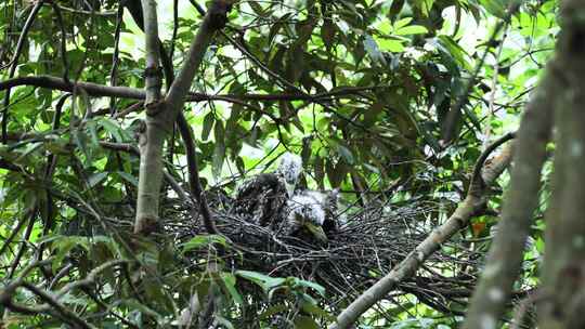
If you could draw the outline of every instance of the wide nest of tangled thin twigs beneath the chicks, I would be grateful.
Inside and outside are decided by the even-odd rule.
[[[224,251],[225,266],[317,282],[326,288],[332,307],[359,295],[391,271],[438,225],[430,219],[444,213],[430,202],[354,205],[336,214],[344,223],[327,234],[327,244],[318,244],[255,225],[233,214],[229,198],[222,206],[211,202],[217,227],[233,247]],[[188,218],[187,225],[173,228],[181,241],[207,234],[200,216]],[[191,256],[206,259],[207,252],[200,250]],[[411,294],[435,310],[456,313],[453,303],[466,303],[480,256],[461,246],[444,245],[388,298]]]

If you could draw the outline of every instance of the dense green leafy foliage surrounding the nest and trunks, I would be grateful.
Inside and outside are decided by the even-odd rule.
[[[144,89],[139,2],[0,3],[1,321],[168,328],[204,326],[213,314],[222,328],[326,327],[395,263],[376,265],[377,255],[367,253],[355,262],[373,267],[362,266],[363,281],[346,282],[344,291],[332,291],[338,285],[304,267],[275,275],[282,268],[251,266],[242,241],[207,235],[202,225],[177,129],[164,149],[164,228],[132,233],[143,96],[76,83]],[[164,51],[178,73],[206,8],[185,0],[158,5]],[[557,11],[557,1],[543,0],[518,8],[503,0],[238,1],[183,110],[212,213],[229,213],[243,179],[295,153],[304,186],[340,189],[339,211],[354,229],[375,235],[359,228],[378,227],[367,221],[374,210],[408,221],[416,229],[411,240],[379,241],[400,261],[465,199],[486,146],[517,129],[554,52]],[[461,321],[507,176],[498,182],[484,213],[366,313],[361,328]],[[220,232],[233,225],[218,222]],[[537,218],[515,298],[538,282],[543,229]]]

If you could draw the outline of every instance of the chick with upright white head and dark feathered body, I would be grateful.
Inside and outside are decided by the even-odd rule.
[[[237,188],[234,212],[257,225],[273,227],[282,219],[301,170],[300,157],[284,154],[275,172],[255,175]]]

